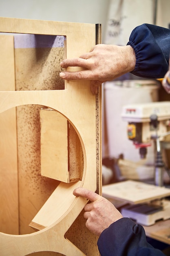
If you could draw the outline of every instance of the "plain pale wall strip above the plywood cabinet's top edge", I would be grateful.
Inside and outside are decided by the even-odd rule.
[[[104,34],[110,0],[0,0],[0,16],[100,23]]]

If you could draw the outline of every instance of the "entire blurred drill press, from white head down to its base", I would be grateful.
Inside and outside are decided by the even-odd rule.
[[[141,158],[145,158],[151,140],[155,141],[155,186],[163,186],[163,171],[166,166],[162,159],[161,141],[170,135],[170,102],[152,102],[131,104],[122,108],[121,117],[128,122],[127,135],[139,149]],[[169,170],[167,170],[169,173]],[[121,211],[124,217],[135,219],[142,225],[152,225],[159,219],[170,218],[170,201],[159,198],[145,204],[131,205]],[[150,218],[152,222],[150,222]]]

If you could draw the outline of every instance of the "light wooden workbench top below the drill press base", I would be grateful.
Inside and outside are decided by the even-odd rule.
[[[161,220],[150,227],[143,227],[146,236],[170,245],[170,220]]]

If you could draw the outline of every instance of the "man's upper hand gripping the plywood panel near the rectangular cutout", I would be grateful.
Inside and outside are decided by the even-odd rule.
[[[79,58],[65,59],[60,63],[63,68],[83,67],[76,72],[61,72],[66,80],[91,80],[91,90],[97,93],[99,85],[111,81],[135,69],[136,56],[130,45],[95,45],[90,52]]]

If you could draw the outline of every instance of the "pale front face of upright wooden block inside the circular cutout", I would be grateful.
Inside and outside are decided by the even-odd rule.
[[[41,110],[41,175],[69,183],[68,121],[57,111]]]

